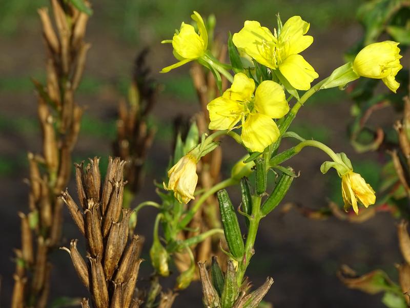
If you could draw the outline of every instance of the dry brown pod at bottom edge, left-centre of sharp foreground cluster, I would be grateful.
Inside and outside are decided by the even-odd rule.
[[[95,308],[107,308],[109,297],[101,258],[88,257],[91,262],[91,295]]]

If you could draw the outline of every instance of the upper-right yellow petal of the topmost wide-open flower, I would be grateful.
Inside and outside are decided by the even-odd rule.
[[[282,52],[285,53],[286,56],[299,53],[311,46],[313,37],[303,35],[308,32],[309,27],[309,23],[303,21],[300,16],[293,16],[286,21],[278,38],[279,48],[284,48]]]

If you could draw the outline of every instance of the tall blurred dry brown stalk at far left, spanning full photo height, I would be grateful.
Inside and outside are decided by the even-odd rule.
[[[51,0],[51,7],[53,18],[48,8],[38,9],[46,45],[47,78],[45,85],[35,80],[33,83],[43,150],[38,155],[28,154],[29,213],[19,213],[22,250],[16,251],[13,307],[47,306],[51,268],[48,254],[58,245],[62,226],[63,201],[57,197],[70,178],[71,152],[83,114],[74,102],[74,90],[89,48],[83,42],[88,16],[64,1]]]

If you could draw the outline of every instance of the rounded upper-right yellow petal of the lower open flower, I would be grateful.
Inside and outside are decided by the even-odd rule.
[[[263,81],[255,92],[255,109],[270,118],[280,119],[289,112],[285,92],[276,82]]]

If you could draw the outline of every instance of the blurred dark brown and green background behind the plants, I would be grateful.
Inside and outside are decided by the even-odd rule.
[[[134,201],[158,201],[153,185],[165,176],[173,144],[173,122],[178,115],[191,117],[199,111],[189,65],[168,74],[158,71],[175,62],[170,45],[161,45],[178,29],[182,21],[190,22],[193,10],[202,16],[215,13],[216,34],[227,38],[228,31],[237,32],[245,20],[258,20],[273,28],[275,14],[284,22],[300,15],[311,23],[309,34],[313,45],[303,52],[305,59],[319,73],[329,75],[343,64],[343,52],[361,36],[355,21],[355,10],[363,0],[271,0],[271,1],[168,1],[168,0],[99,0],[92,3],[86,42],[92,44],[87,56],[84,78],[76,93],[76,102],[87,106],[73,161],[101,157],[106,168],[115,139],[118,101],[127,95],[133,60],[143,48],[150,48],[148,63],[152,76],[159,82],[160,95],[151,125],[157,129],[146,164],[144,186]],[[30,77],[45,80],[41,26],[36,9],[48,6],[46,0],[13,0],[0,2],[0,275],[1,306],[9,306],[14,271],[13,248],[20,241],[18,210],[27,209],[27,151],[40,151],[40,130],[36,115],[36,95]],[[350,107],[345,93],[338,89],[319,92],[299,112],[293,131],[306,139],[313,138],[344,151],[352,158],[355,171],[376,190],[379,179],[372,171],[379,164],[376,153],[358,155],[348,142],[346,128],[350,123]],[[393,117],[388,111],[379,121]],[[232,164],[243,150],[226,140],[223,147],[223,172],[229,175]],[[326,206],[329,200],[341,203],[340,180],[334,174],[323,176],[319,170],[326,159],[322,152],[306,148],[289,164],[300,177],[286,201],[308,208]],[[73,182],[69,190],[74,191]],[[231,189],[233,201],[239,203],[239,188]],[[140,212],[136,232],[149,243],[142,258],[148,259],[155,210]],[[143,218],[143,219],[142,219]],[[64,241],[79,238],[76,227],[65,211]],[[310,220],[298,211],[282,214],[274,211],[262,220],[256,241],[256,254],[248,274],[254,285],[269,275],[275,280],[265,298],[275,307],[383,307],[380,296],[348,290],[336,277],[341,264],[349,264],[359,273],[382,268],[397,278],[395,262],[401,261],[395,225],[389,214],[379,214],[362,224],[351,224],[331,218]],[[52,254],[54,262],[51,299],[61,296],[87,296],[79,285],[68,255]],[[149,262],[143,263],[141,284],[148,281]],[[172,285],[169,285],[172,287]],[[181,292],[175,307],[200,306],[200,284],[194,282]]]

